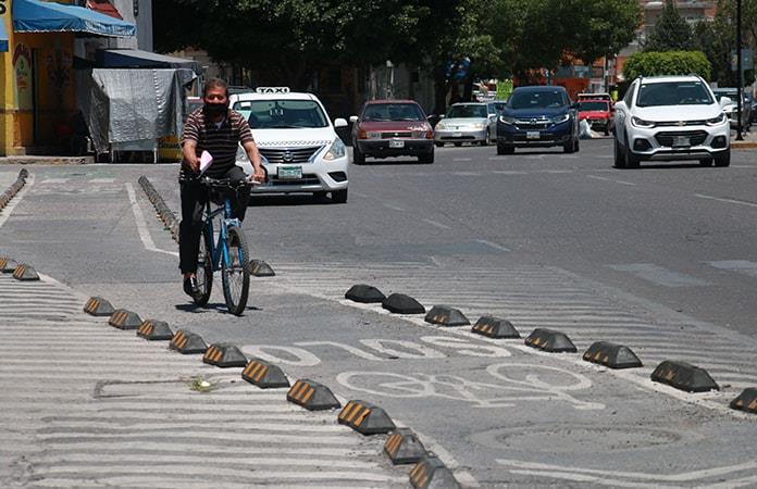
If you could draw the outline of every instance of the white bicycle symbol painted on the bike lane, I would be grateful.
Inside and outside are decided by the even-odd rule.
[[[519,402],[560,401],[576,410],[604,410],[605,404],[576,399],[592,381],[564,368],[521,363],[497,363],[486,373],[495,380],[470,380],[456,375],[390,372],[344,372],[336,379],[348,389],[388,398],[442,398],[470,402],[475,408],[510,408]]]

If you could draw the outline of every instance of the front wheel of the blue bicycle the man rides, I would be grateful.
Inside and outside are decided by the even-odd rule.
[[[249,248],[247,238],[240,228],[229,226],[226,230],[228,262],[222,260],[221,278],[226,308],[234,315],[240,315],[247,306],[247,293],[250,287]]]

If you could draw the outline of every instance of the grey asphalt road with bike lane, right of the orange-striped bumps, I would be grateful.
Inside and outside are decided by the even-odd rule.
[[[243,317],[223,312],[220,287],[206,310],[181,292],[176,246],[136,181],[147,175],[178,210],[174,165],[32,167],[0,251],[385,408],[466,486],[757,484],[744,450],[757,418],[728,409],[757,386],[754,153],[734,151],[729,168],[629,171],[611,167],[607,139],[570,155],[495,153],[369,160],[350,168],[344,205],[256,198],[245,230],[277,275],[253,280]],[[4,180],[16,173],[0,168]],[[560,329],[579,353],[345,301],[358,283],[459,308],[471,322],[495,314],[522,336]],[[582,362],[596,340],[628,344],[645,366]],[[653,384],[666,359],[706,367],[722,390]]]

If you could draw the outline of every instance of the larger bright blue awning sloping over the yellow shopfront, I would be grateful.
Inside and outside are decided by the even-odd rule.
[[[87,33],[95,36],[133,37],[137,27],[84,7],[40,0],[13,1],[16,33]]]

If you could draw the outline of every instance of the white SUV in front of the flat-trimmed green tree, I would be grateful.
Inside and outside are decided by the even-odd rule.
[[[698,160],[703,166],[731,164],[723,106],[698,76],[636,78],[616,103],[615,165],[641,161]]]

